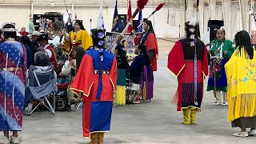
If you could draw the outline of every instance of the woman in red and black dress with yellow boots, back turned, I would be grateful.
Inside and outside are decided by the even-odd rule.
[[[175,43],[168,56],[168,69],[178,77],[178,90],[173,102],[183,110],[182,124],[196,124],[201,110],[203,78],[208,74],[206,46],[198,39],[198,23],[186,22],[186,38]]]

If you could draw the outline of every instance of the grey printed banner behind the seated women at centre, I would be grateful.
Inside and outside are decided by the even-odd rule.
[[[115,40],[121,33],[115,32],[106,32],[106,49],[112,50],[115,44]],[[138,35],[138,34],[137,34]],[[132,60],[137,54],[134,54],[135,46],[134,46],[134,38],[130,36],[130,33],[124,35],[123,39],[125,40],[124,45],[126,49],[127,58]]]

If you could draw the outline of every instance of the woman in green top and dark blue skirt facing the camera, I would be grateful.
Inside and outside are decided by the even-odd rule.
[[[210,74],[208,79],[207,91],[214,90],[216,101],[214,106],[226,106],[226,72],[225,64],[229,61],[234,52],[233,42],[226,39],[226,32],[222,26],[216,33],[216,39],[210,42]],[[221,92],[223,94],[223,102],[221,102]]]

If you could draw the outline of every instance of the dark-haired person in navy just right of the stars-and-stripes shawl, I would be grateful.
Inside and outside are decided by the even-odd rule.
[[[20,39],[20,42],[22,42],[22,44],[26,48],[27,69],[29,69],[30,65],[34,64],[34,57],[32,54],[32,50],[30,48],[30,38],[28,38],[27,36],[22,36],[22,38]]]

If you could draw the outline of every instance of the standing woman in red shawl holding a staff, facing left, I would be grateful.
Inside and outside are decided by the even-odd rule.
[[[157,71],[158,42],[154,34],[152,22],[150,20],[143,22],[143,30],[145,31],[138,37],[136,37],[135,31],[132,31],[134,43],[136,46],[138,46],[139,43],[142,43],[146,46],[147,54],[150,57],[150,63],[152,65],[153,71]]]

